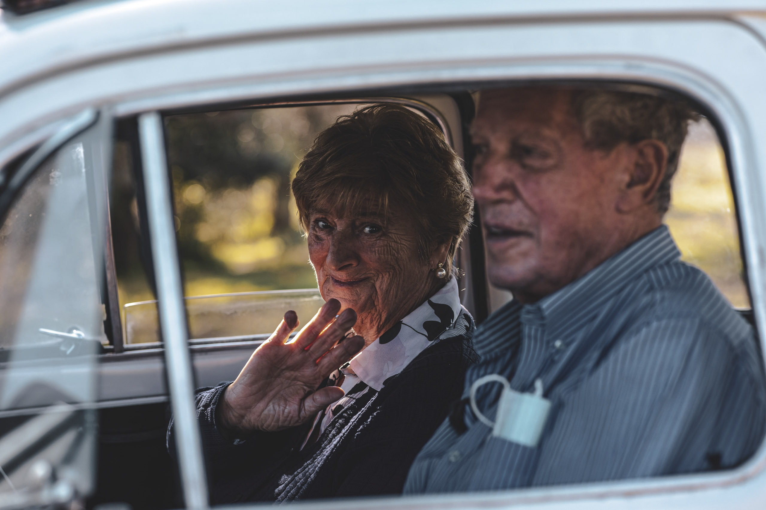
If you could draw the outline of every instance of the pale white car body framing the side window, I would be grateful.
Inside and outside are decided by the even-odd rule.
[[[0,166],[87,107],[120,116],[247,99],[545,79],[662,86],[715,115],[766,346],[762,1],[125,0],[75,2],[21,16],[4,12]],[[158,271],[161,279],[172,268],[158,265]],[[178,341],[185,349],[185,338]],[[169,367],[169,377],[175,373]],[[171,382],[171,395],[190,398],[191,388],[185,395],[174,391]],[[196,454],[189,459],[199,462]],[[195,489],[187,489],[187,497],[189,490]],[[204,507],[195,501],[188,506]],[[761,447],[744,466],[716,473],[301,505],[745,509],[762,508],[764,501]]]

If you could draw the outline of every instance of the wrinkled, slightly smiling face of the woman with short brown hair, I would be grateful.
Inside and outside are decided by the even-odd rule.
[[[354,330],[367,345],[444,284],[431,269],[444,262],[447,246],[423,261],[414,223],[391,209],[385,217],[377,208],[309,216],[309,257],[322,298],[357,313]]]

